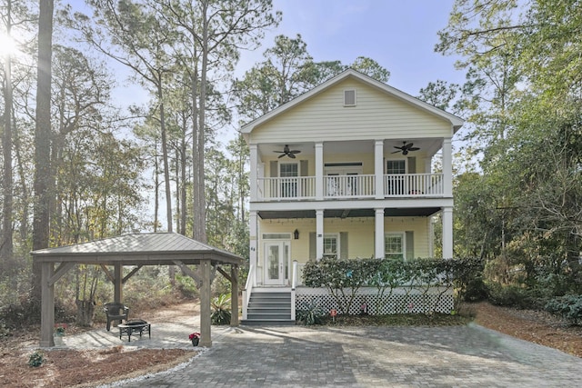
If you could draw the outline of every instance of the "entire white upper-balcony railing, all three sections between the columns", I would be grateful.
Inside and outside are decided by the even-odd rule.
[[[384,196],[443,196],[443,174],[385,174]],[[323,199],[358,199],[376,197],[376,175],[326,175]],[[316,177],[296,176],[258,178],[259,201],[293,201],[316,199]]]

